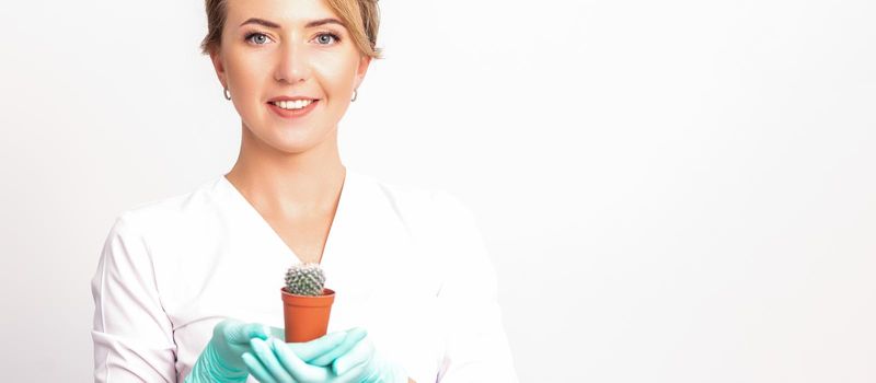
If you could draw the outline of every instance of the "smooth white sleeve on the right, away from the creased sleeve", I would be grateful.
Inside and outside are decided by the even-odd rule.
[[[447,192],[438,199],[449,213],[441,233],[449,263],[438,292],[445,353],[437,382],[517,383],[496,272],[474,214]]]

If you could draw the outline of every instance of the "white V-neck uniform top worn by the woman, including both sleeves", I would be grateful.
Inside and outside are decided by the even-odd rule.
[[[298,262],[223,175],[122,212],[91,281],[95,381],[182,382],[223,318],[284,327]],[[322,267],[330,333],[364,327],[417,383],[517,382],[495,271],[451,194],[347,166]]]

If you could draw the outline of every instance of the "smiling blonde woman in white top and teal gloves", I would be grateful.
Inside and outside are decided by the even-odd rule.
[[[380,58],[376,0],[206,9],[240,154],[115,221],[92,280],[95,380],[516,382],[471,212],[341,163],[337,123]],[[336,298],[327,335],[287,344],[279,288],[299,262]]]

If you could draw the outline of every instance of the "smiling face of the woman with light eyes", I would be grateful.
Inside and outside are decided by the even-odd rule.
[[[314,23],[325,20],[337,22]],[[336,137],[371,61],[321,0],[228,0],[221,47],[211,59],[244,128],[285,152]],[[307,114],[284,117],[269,103],[283,96],[316,101]]]

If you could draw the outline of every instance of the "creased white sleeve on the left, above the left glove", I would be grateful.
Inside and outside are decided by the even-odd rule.
[[[176,382],[176,346],[143,236],[119,216],[91,280],[95,382]]]

